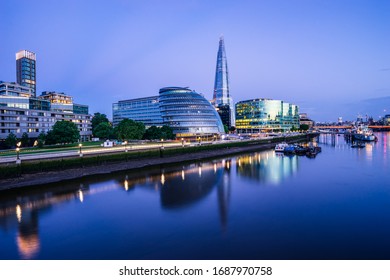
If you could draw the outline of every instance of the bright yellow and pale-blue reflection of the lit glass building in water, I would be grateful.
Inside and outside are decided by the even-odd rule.
[[[296,156],[276,156],[274,151],[237,157],[237,174],[264,183],[278,184],[298,170]]]

